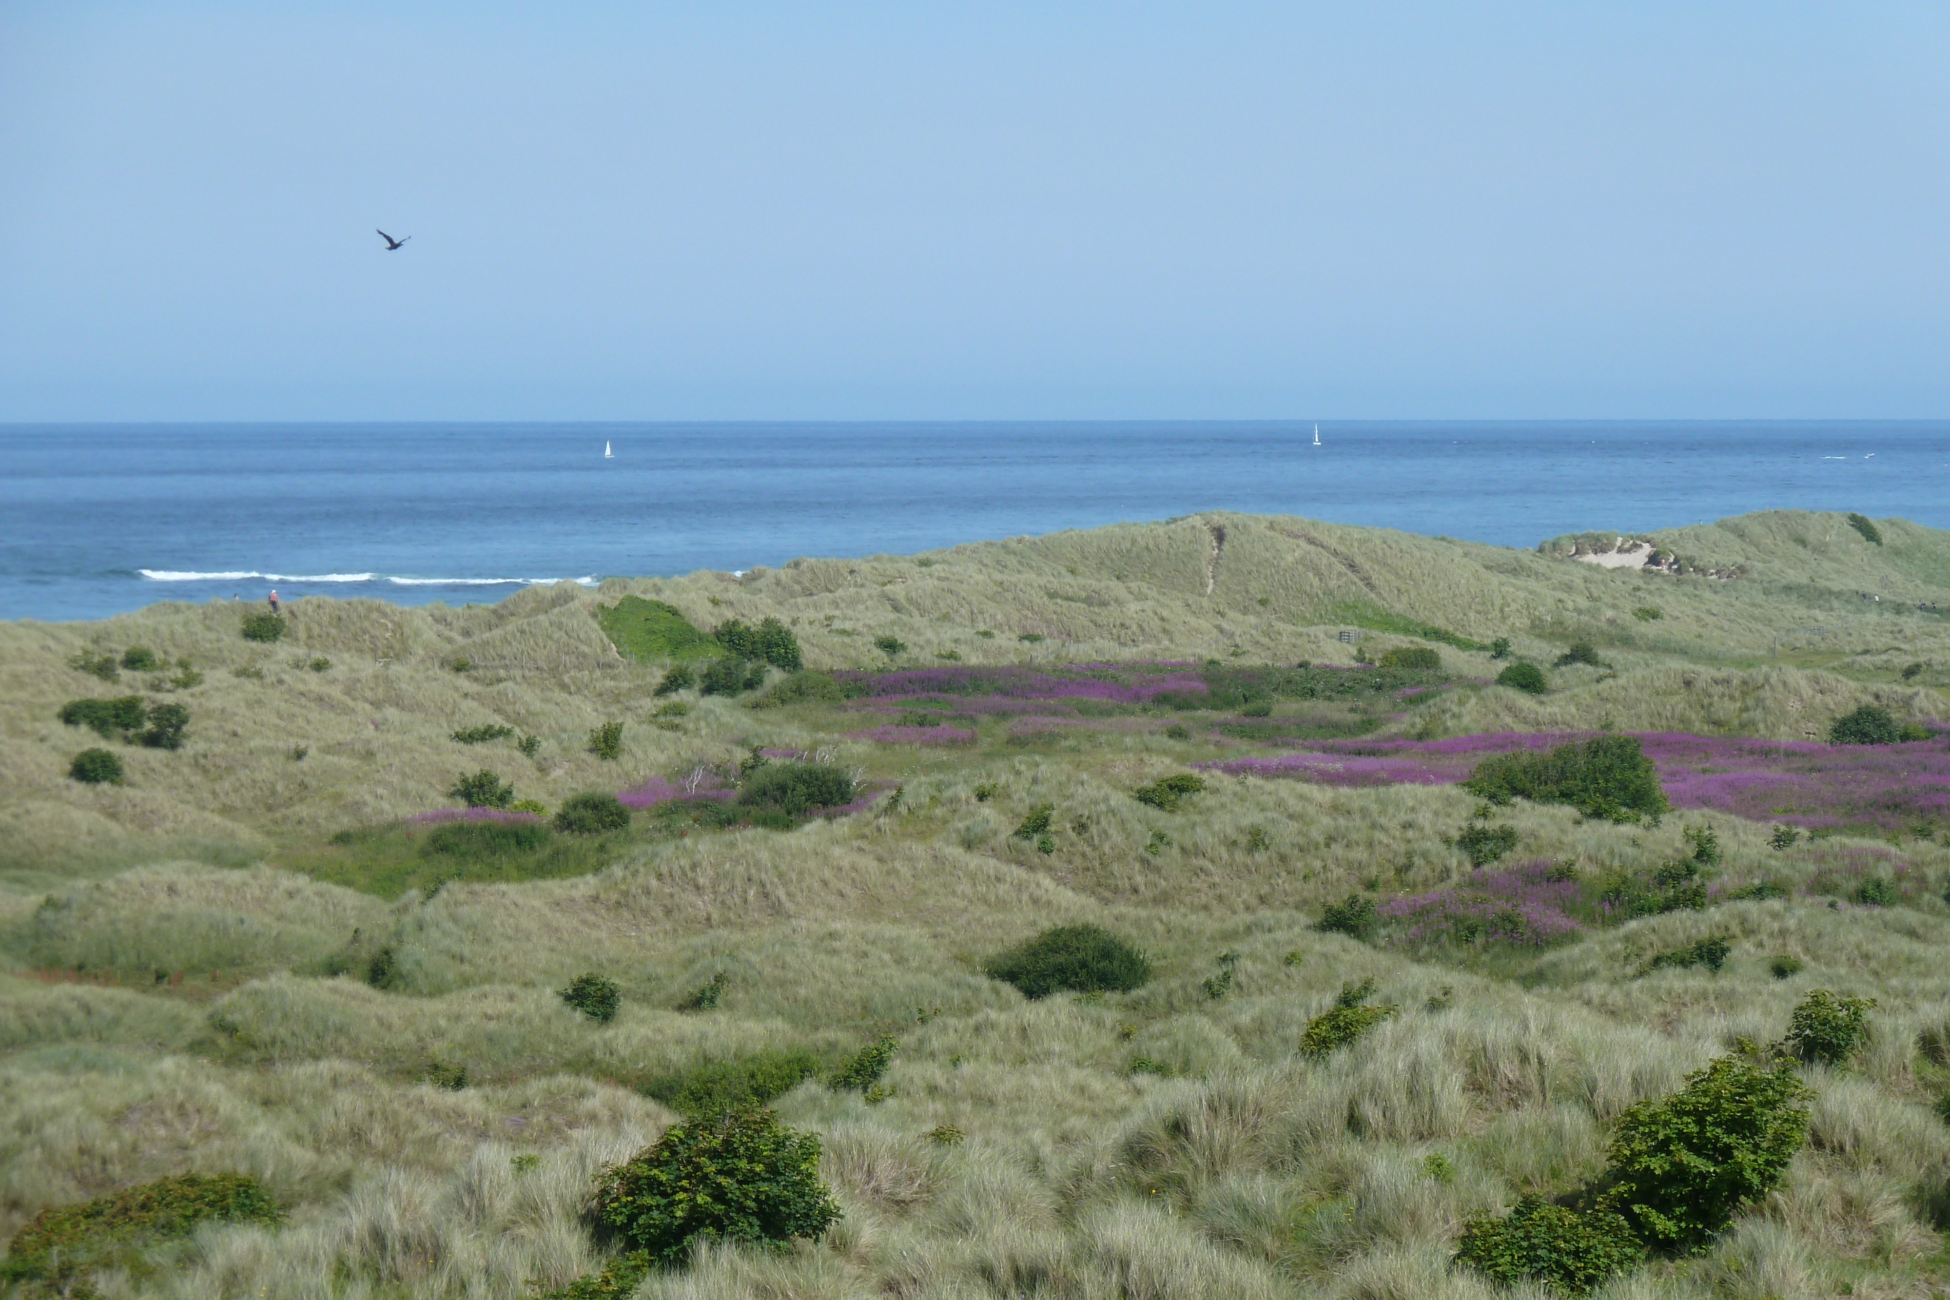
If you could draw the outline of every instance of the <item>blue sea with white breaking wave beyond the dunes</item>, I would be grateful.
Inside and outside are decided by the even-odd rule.
[[[0,618],[778,565],[1209,509],[1535,546],[1950,526],[1950,423],[6,425]],[[603,456],[604,442],[614,456]]]

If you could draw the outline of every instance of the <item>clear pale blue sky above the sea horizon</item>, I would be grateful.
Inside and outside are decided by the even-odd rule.
[[[1932,4],[6,0],[0,421],[1940,417],[1944,68]]]

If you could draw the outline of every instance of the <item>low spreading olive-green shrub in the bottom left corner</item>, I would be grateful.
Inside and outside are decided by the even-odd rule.
[[[96,1269],[140,1269],[144,1245],[187,1238],[197,1224],[244,1222],[275,1228],[285,1210],[244,1173],[183,1173],[140,1187],[41,1210],[8,1243],[0,1277],[45,1284],[62,1296],[94,1296]],[[41,1294],[41,1292],[33,1292]]]

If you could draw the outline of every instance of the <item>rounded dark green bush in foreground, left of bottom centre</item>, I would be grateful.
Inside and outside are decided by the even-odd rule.
[[[762,1109],[673,1125],[599,1175],[595,1212],[663,1265],[684,1263],[698,1242],[819,1238],[840,1216],[819,1181],[819,1138]]]

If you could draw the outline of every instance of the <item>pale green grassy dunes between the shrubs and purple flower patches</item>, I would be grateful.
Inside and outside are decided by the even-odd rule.
[[[1804,1070],[1812,1138],[1782,1187],[1702,1257],[1601,1294],[1930,1294],[1950,1224],[1950,826],[1776,848],[1769,824],[1724,813],[1648,826],[1515,803],[1490,811],[1517,836],[1507,861],[1572,863],[1591,889],[1683,860],[1685,832],[1712,828],[1714,904],[1540,945],[1359,943],[1314,930],[1322,908],[1466,885],[1472,795],[1209,768],[1176,811],[1131,795],[1289,752],[1254,727],[1314,727],[1326,706],[1051,706],[1026,729],[948,700],[942,717],[975,737],[957,746],[850,739],[909,707],[872,700],[751,709],[684,692],[686,713],[657,717],[663,665],[618,655],[595,618],[624,594],[704,630],[778,618],[811,669],[1351,665],[1429,645],[1449,680],[1336,704],[1334,725],[1804,741],[1868,702],[1946,717],[1950,624],[1917,604],[1950,602],[1950,534],[1876,526],[1880,548],[1839,515],[1790,511],[1628,534],[1683,559],[1667,575],[1578,563],[1562,540],[1511,552],[1199,515],[460,610],[304,598],[273,645],[242,639],[230,602],[0,626],[0,1228],[236,1169],[291,1208],[285,1228],[207,1226],[168,1267],[99,1275],[99,1292],[523,1296],[601,1267],[591,1177],[673,1121],[645,1091],[659,1080],[764,1051],[837,1062],[895,1033],[885,1099],[807,1080],[774,1103],[823,1136],[844,1210],[829,1238],[704,1249],[642,1294],[1513,1294],[1449,1267],[1466,1218],[1572,1193],[1628,1105],[1739,1037],[1778,1039],[1808,990],[1833,988],[1878,1000],[1872,1037],[1847,1070]],[[1496,637],[1552,690],[1490,686],[1502,665],[1457,647]],[[1554,667],[1574,639],[1605,665]],[[166,670],[68,667],[131,645]],[[179,659],[201,684],[170,686]],[[57,719],[123,694],[187,706],[183,748]],[[606,721],[624,723],[612,762],[587,746]],[[450,739],[489,723],[536,754]],[[68,780],[98,743],[127,784]],[[753,746],[825,750],[899,799],[790,832],[638,813],[571,846],[556,879],[525,877],[540,858],[443,858],[425,828],[390,826],[450,807],[456,774],[484,766],[556,807]],[[1047,848],[1014,834],[1043,805]],[[1866,904],[1866,881],[1890,881],[1890,900]],[[1734,897],[1757,883],[1776,897]],[[981,973],[1065,922],[1129,937],[1152,982],[1028,1002]],[[1652,965],[1714,936],[1718,973]],[[1778,957],[1802,965],[1776,978]],[[612,1023],[558,998],[585,971],[620,986]],[[1301,1056],[1308,1019],[1369,976],[1400,1012]],[[714,978],[716,1006],[682,1010]],[[928,1140],[940,1125],[965,1140]]]

